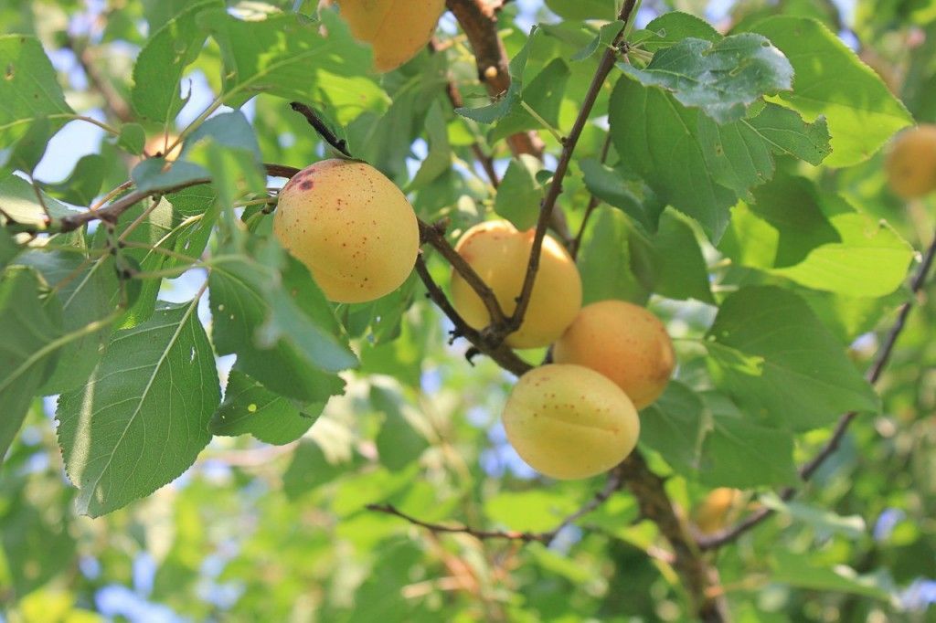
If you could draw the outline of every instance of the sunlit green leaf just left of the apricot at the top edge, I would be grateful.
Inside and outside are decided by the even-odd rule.
[[[210,9],[197,22],[211,33],[224,59],[222,101],[240,108],[257,93],[290,100],[322,99],[336,107],[377,108],[387,95],[373,80],[372,54],[348,33],[334,11],[322,11],[323,24],[298,15],[270,15],[241,22],[224,9]]]

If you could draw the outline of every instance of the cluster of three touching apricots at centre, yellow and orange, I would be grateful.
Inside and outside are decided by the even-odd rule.
[[[490,221],[468,229],[455,249],[509,316],[533,243],[533,229]],[[456,271],[451,289],[469,325],[490,325],[481,297]],[[520,377],[505,404],[504,427],[519,456],[553,478],[586,478],[629,455],[640,429],[637,410],[660,397],[675,365],[665,326],[651,312],[620,300],[582,308],[581,299],[575,260],[547,236],[527,312],[505,342],[552,344],[555,363]]]

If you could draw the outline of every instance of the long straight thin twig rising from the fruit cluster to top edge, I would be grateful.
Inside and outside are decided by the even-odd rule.
[[[626,0],[618,19],[625,24],[630,22],[635,6],[636,0]],[[581,109],[578,111],[576,122],[572,125],[569,136],[563,141],[563,152],[562,155],[560,155],[559,164],[556,165],[556,171],[552,176],[552,183],[549,184],[546,198],[543,199],[543,205],[539,210],[533,249],[530,252],[530,263],[527,266],[526,277],[523,280],[523,288],[520,290],[520,296],[517,299],[517,309],[514,310],[513,315],[510,317],[505,327],[505,335],[516,331],[523,323],[523,316],[526,314],[527,308],[530,305],[530,297],[533,294],[536,271],[539,269],[539,258],[543,250],[543,239],[546,237],[546,230],[552,218],[552,212],[556,207],[556,201],[563,192],[563,179],[565,178],[566,171],[568,171],[569,163],[572,161],[572,153],[575,152],[578,138],[581,136],[585,124],[588,123],[589,115],[592,112],[595,101],[598,99],[598,94],[601,92],[601,88],[605,84],[608,74],[611,73],[611,69],[614,68],[614,63],[618,58],[618,47],[621,45],[626,31],[627,28],[625,26],[621,29],[621,32],[614,37],[614,41],[602,55],[601,61],[598,64],[598,69],[595,71],[594,77],[592,78],[592,84],[589,86],[588,92],[582,100]]]

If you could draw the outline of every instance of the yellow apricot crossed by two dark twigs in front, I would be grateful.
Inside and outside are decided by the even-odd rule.
[[[534,230],[518,231],[508,221],[488,221],[470,228],[455,250],[490,286],[509,315],[523,288]],[[452,272],[452,302],[470,326],[484,328],[490,314],[481,297],[457,272]],[[555,239],[543,239],[530,305],[519,329],[507,336],[513,348],[547,346],[562,335],[582,304],[582,282],[575,260]]]

